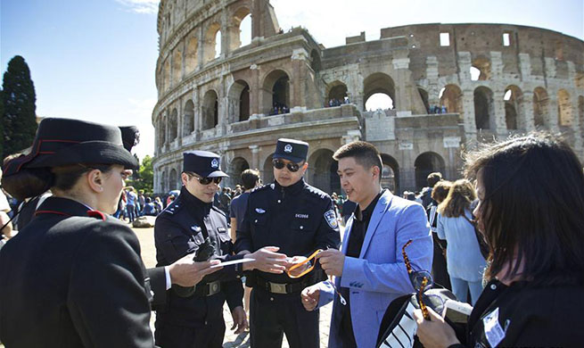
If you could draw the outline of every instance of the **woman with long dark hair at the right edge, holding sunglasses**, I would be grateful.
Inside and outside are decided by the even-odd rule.
[[[581,347],[584,342],[584,173],[569,145],[547,134],[469,153],[474,210],[490,248],[465,337],[442,317],[415,311],[417,335],[433,347]],[[461,343],[462,342],[462,343]]]

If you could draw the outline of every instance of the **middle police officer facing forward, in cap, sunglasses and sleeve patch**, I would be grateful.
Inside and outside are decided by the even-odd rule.
[[[308,144],[279,139],[274,153],[271,185],[251,192],[242,226],[237,227],[235,250],[240,254],[275,246],[292,264],[317,249],[338,248],[341,242],[333,201],[303,180],[308,168]],[[278,250],[279,248],[279,250]],[[284,333],[292,348],[317,348],[318,311],[304,310],[300,292],[325,279],[315,268],[300,278],[285,272],[255,269],[247,275],[251,286],[251,347],[280,347]]]

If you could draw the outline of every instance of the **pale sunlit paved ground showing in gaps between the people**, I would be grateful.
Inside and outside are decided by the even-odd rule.
[[[154,231],[153,228],[134,228],[136,236],[140,241],[142,248],[142,259],[146,267],[154,267],[156,264],[156,249],[154,247]],[[331,311],[333,309],[332,304],[327,304],[320,310],[320,346],[326,347],[328,342],[328,332],[331,319]],[[250,333],[245,332],[240,335],[234,335],[233,331],[229,330],[233,325],[231,319],[231,313],[229,312],[227,306],[224,308],[224,318],[226,320],[226,336],[223,340],[224,348],[235,348],[235,347],[249,347],[250,343]],[[154,323],[154,312],[152,312],[151,326]],[[288,343],[286,342],[284,336],[284,344],[282,347],[288,348]]]

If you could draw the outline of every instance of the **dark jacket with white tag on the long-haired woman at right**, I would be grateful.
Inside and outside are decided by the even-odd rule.
[[[584,346],[584,286],[485,286],[468,320],[466,347]]]

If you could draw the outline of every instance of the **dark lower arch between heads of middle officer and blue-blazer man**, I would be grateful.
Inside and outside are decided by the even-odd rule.
[[[341,181],[337,170],[339,163],[333,160],[333,151],[318,149],[308,158],[310,184],[327,194],[341,193]]]

